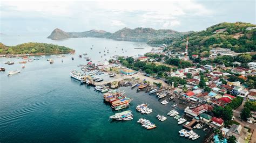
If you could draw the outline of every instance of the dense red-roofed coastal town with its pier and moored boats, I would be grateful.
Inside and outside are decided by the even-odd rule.
[[[254,142],[256,137],[256,62],[245,59],[225,63],[205,61],[238,56],[251,56],[248,53],[235,53],[230,49],[214,48],[208,57],[188,55],[188,41],[185,52],[170,52],[167,45],[152,48],[145,55],[133,57],[113,56],[105,62],[87,62],[80,65],[85,74],[71,73],[71,77],[96,86],[104,93],[104,98],[114,110],[129,106],[132,99],[124,96],[124,91],[115,90],[119,86],[131,86],[138,91],[156,94],[161,104],[173,104],[173,108],[183,108],[184,114],[172,109],[167,116],[173,116],[178,124],[183,124],[179,131],[181,137],[196,140],[200,135],[194,128],[207,131],[205,142]],[[252,57],[250,58],[252,59]],[[176,62],[177,65],[175,64]],[[200,64],[201,63],[201,64]],[[77,71],[76,71],[77,72]],[[112,77],[103,80],[101,74]],[[138,105],[137,111],[151,113],[146,104]],[[111,116],[117,120],[131,120],[131,111],[116,113]],[[165,116],[158,115],[161,121]],[[149,129],[157,124],[140,118],[138,123]],[[228,141],[229,142],[229,141]]]

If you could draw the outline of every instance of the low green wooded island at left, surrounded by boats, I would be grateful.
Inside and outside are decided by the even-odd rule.
[[[5,55],[18,55],[18,54],[29,54],[29,55],[48,55],[48,54],[68,54],[74,53],[75,50],[53,44],[28,42],[19,44],[16,46],[6,46],[0,42],[0,54]]]

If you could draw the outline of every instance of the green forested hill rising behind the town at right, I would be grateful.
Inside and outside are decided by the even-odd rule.
[[[185,34],[179,39],[165,39],[177,51],[184,50],[188,37],[188,51],[203,52],[211,48],[230,48],[235,52],[256,51],[256,25],[250,23],[220,23],[206,30]],[[150,41],[151,42],[151,41]]]

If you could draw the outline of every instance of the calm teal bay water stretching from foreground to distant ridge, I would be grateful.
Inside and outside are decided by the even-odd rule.
[[[113,111],[103,100],[103,95],[93,87],[81,85],[69,76],[77,65],[86,63],[78,58],[79,54],[88,53],[93,61],[101,61],[113,55],[137,55],[151,50],[146,45],[111,39],[77,38],[52,41],[44,37],[1,37],[5,45],[17,45],[23,42],[46,42],[76,49],[75,60],[66,55],[50,65],[46,58],[25,64],[21,69],[21,59],[0,58],[0,67],[6,71],[20,69],[21,73],[7,76],[0,73],[0,142],[201,142],[204,134],[196,141],[179,137],[182,128],[173,117],[160,122],[156,115],[166,115],[173,103],[161,105],[156,95],[144,91],[136,92],[130,87],[122,87],[128,97],[133,98],[128,109],[134,119],[130,121],[112,121],[109,116]],[[91,45],[94,45],[91,50]],[[99,52],[109,49],[110,53],[100,58]],[[116,48],[118,47],[118,48]],[[145,49],[134,49],[144,47]],[[122,48],[124,49],[122,51]],[[114,52],[116,51],[116,52]],[[125,52],[127,51],[127,52]],[[123,53],[124,52],[124,53]],[[52,57],[51,57],[52,58]],[[15,61],[15,65],[4,65],[5,61]],[[163,100],[163,99],[161,99]],[[136,111],[138,104],[150,104],[153,112],[141,115]],[[178,111],[183,110],[176,108]],[[124,111],[124,110],[123,110]],[[182,114],[182,113],[181,113]],[[153,130],[145,130],[137,123],[139,118],[146,118],[157,125]]]

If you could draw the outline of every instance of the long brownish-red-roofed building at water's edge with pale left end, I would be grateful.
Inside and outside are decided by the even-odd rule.
[[[211,105],[208,104],[203,104],[200,106],[197,106],[194,109],[190,109],[188,106],[187,108],[185,108],[185,113],[188,113],[189,115],[192,115],[194,117],[197,117],[198,115],[200,115],[201,113],[204,113],[206,111],[211,111],[213,109],[213,107]]]

